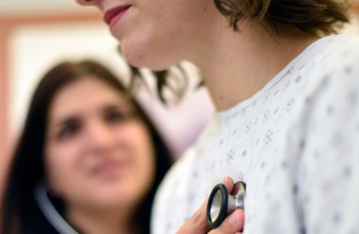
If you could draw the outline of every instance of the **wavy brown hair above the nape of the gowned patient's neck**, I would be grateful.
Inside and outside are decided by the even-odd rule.
[[[235,31],[247,19],[266,20],[273,26],[289,24],[314,35],[337,33],[349,22],[347,0],[214,0]]]

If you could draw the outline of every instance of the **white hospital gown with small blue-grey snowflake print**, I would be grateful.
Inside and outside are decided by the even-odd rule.
[[[224,176],[247,184],[244,234],[359,234],[359,37],[314,42],[216,113],[162,183],[152,232],[176,233]]]

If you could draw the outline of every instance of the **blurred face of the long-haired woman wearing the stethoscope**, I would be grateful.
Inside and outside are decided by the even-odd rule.
[[[151,187],[150,133],[125,95],[95,78],[63,87],[49,109],[45,165],[66,205],[135,207]]]

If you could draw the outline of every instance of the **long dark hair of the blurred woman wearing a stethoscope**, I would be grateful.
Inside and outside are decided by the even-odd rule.
[[[64,62],[47,72],[33,94],[24,129],[15,148],[12,164],[10,164],[1,204],[0,234],[54,233],[54,228],[40,212],[33,198],[36,185],[46,180],[43,152],[49,108],[61,88],[89,76],[109,84],[119,93],[128,93],[117,77],[94,61]],[[149,233],[151,205],[155,190],[169,169],[171,159],[167,146],[151,120],[134,99],[131,98],[131,102],[148,127],[155,149],[155,179],[132,219],[140,233]],[[63,212],[65,209],[63,201],[59,198],[50,198],[59,212]]]

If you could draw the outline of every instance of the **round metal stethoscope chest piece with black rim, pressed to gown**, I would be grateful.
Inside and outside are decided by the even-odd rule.
[[[236,209],[244,210],[245,182],[234,184],[231,194],[223,184],[215,185],[207,203],[207,222],[212,228],[217,228],[228,214]]]

